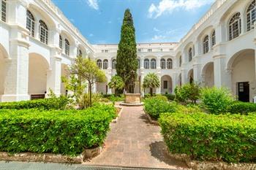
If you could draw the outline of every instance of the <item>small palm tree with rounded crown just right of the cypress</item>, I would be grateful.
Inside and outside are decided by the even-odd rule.
[[[148,73],[143,80],[143,88],[150,89],[150,95],[153,96],[153,88],[159,88],[160,80],[155,73]]]

